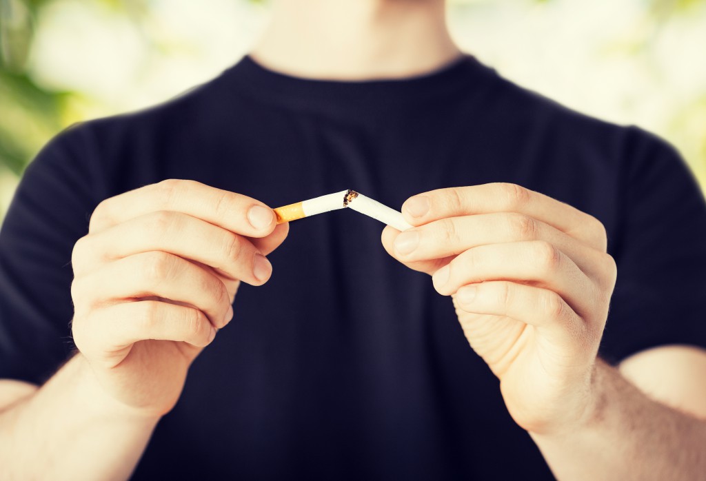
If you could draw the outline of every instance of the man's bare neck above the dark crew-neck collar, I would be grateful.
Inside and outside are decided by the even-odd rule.
[[[443,0],[276,0],[251,51],[266,68],[326,80],[405,78],[459,55]]]

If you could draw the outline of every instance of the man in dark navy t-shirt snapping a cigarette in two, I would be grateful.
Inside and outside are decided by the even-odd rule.
[[[414,229],[275,226],[345,188]],[[693,178],[461,54],[441,0],[275,2],[219,78],[51,142],[0,256],[3,479],[706,472]]]

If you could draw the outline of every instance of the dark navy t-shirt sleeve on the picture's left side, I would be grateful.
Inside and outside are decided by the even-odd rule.
[[[0,227],[0,379],[42,384],[73,350],[71,252],[94,208],[84,135],[44,147]]]

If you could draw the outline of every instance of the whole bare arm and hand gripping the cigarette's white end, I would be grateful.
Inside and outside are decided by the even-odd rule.
[[[704,351],[644,351],[621,365],[625,376],[597,357],[616,281],[597,219],[503,183],[423,193],[402,213],[414,228],[385,228],[383,246],[453,299],[469,345],[559,480],[706,472]]]

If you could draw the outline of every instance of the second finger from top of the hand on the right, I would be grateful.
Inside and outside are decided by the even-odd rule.
[[[589,276],[602,272],[604,253],[525,214],[500,212],[448,217],[408,229],[394,241],[394,257],[403,262],[455,256],[479,245],[546,240],[568,255]]]

